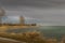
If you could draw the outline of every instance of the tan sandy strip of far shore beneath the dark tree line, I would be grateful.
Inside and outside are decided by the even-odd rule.
[[[8,29],[18,29],[18,28],[37,28],[37,26],[2,26],[0,31],[5,31]]]

